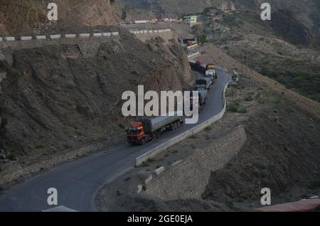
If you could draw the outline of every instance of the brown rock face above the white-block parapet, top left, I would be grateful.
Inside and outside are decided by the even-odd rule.
[[[48,4],[58,5],[58,21],[49,21]],[[110,0],[0,0],[0,35],[24,35],[117,25]]]

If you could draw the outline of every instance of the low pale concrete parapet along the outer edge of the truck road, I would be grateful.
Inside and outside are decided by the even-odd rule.
[[[183,134],[180,134],[173,139],[170,139],[169,141],[166,141],[164,144],[161,144],[157,146],[154,149],[151,149],[150,151],[146,152],[146,154],[143,154],[142,156],[139,156],[136,158],[136,166],[142,165],[142,163],[148,161],[151,158],[154,158],[161,154],[162,151],[165,151],[170,146],[177,144],[180,141],[183,141],[184,139],[188,138],[189,136],[192,136],[193,134],[197,134],[198,132],[202,131],[203,129],[206,129],[206,127],[209,127],[211,124],[217,122],[218,120],[223,118],[223,115],[225,114],[225,109],[227,107],[227,102],[225,100],[225,90],[227,90],[228,84],[225,85],[225,89],[223,90],[223,102],[224,106],[222,111],[215,115],[214,117],[206,120],[205,122],[198,124],[198,126],[193,127],[192,129],[189,129],[188,131],[185,131]]]

